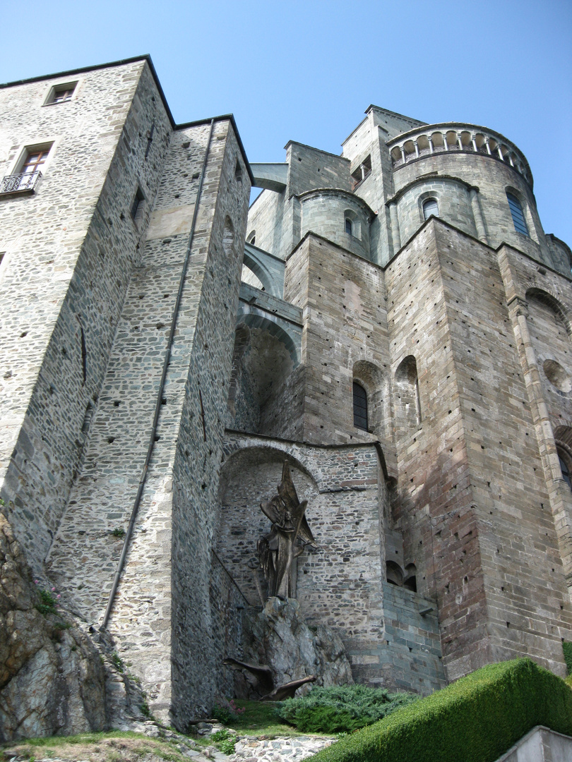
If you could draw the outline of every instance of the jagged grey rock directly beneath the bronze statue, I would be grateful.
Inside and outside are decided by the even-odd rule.
[[[324,625],[304,623],[297,600],[269,598],[262,612],[245,619],[245,659],[268,664],[275,687],[311,674],[316,675],[317,685],[353,683],[352,670],[339,636]],[[252,683],[238,685],[237,690],[243,695],[255,693]],[[304,686],[300,693],[307,690],[310,688]]]

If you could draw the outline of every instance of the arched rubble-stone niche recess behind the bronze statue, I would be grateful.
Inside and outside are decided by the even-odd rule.
[[[260,606],[259,589],[265,594],[265,580],[257,568],[256,543],[270,530],[270,521],[260,503],[276,493],[282,466],[288,461],[300,501],[307,500],[307,520],[317,508],[320,492],[316,479],[296,457],[275,444],[235,450],[220,469],[215,552],[252,606]],[[298,559],[304,564],[307,553]],[[258,584],[257,584],[258,583]]]

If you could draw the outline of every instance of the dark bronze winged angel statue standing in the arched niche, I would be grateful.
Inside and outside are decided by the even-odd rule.
[[[282,468],[278,495],[260,504],[262,512],[272,522],[272,529],[259,539],[257,550],[262,571],[268,584],[268,596],[294,597],[292,571],[294,560],[305,545],[316,541],[304,516],[307,500],[301,503],[296,495],[288,463]]]

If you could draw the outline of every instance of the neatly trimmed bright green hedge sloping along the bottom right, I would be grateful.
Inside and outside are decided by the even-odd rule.
[[[530,659],[490,664],[312,762],[493,762],[535,725],[572,735],[572,690]]]

